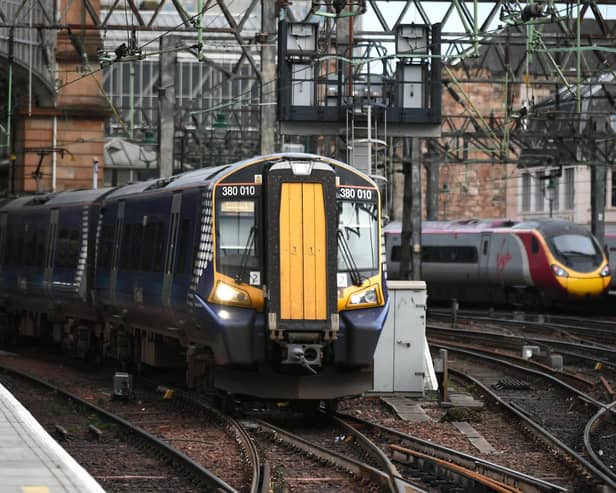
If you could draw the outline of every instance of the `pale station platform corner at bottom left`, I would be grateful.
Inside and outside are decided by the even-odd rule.
[[[104,493],[0,385],[0,493]]]

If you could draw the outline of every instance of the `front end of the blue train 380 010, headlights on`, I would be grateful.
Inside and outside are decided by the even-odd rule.
[[[209,190],[193,381],[270,399],[369,389],[388,309],[375,183],[329,158],[277,154],[226,168]]]

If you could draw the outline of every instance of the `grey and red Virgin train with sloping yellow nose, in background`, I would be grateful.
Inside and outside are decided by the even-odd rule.
[[[400,223],[385,228],[387,270],[400,273]],[[610,268],[584,227],[557,219],[424,222],[422,278],[433,300],[550,306],[606,294]]]

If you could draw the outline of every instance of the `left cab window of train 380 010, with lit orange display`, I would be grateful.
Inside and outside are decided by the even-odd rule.
[[[216,224],[218,271],[248,281],[249,271],[259,269],[255,202],[220,201]]]

